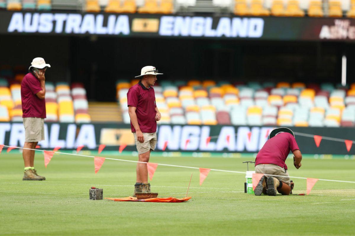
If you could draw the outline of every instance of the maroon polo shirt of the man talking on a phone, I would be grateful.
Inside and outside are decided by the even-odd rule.
[[[37,97],[42,91],[39,80],[28,73],[21,82],[22,117],[46,118],[45,99]]]

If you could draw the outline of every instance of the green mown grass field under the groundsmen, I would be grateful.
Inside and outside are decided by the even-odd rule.
[[[126,197],[135,183],[135,163],[105,160],[95,175],[92,158],[54,155],[47,169],[38,152],[35,167],[47,180],[22,181],[21,154],[0,155],[0,235],[354,235],[355,184],[318,181],[308,196],[244,193],[245,175],[211,171],[199,185],[197,169],[158,166],[151,181],[160,197],[184,203],[89,200],[89,188],[104,197]],[[113,157],[115,156],[105,156]],[[136,160],[133,157],[119,157]],[[251,158],[151,157],[151,162],[245,171]],[[289,174],[355,180],[355,160],[304,159]],[[293,179],[294,193],[306,180]]]

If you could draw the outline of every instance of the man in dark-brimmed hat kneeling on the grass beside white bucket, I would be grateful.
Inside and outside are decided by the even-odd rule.
[[[262,193],[269,196],[276,196],[276,192],[282,195],[289,195],[293,189],[293,183],[287,172],[285,163],[290,151],[294,155],[293,165],[296,169],[301,167],[302,154],[296,143],[295,134],[291,129],[280,127],[275,128],[269,134],[269,139],[260,149],[255,159],[255,173],[264,175],[254,193],[260,196]],[[268,176],[279,175],[279,176]]]

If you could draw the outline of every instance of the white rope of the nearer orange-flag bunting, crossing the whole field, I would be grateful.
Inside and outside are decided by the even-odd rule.
[[[18,149],[25,149],[25,150],[33,150],[33,151],[46,151],[46,150],[40,150],[40,149],[31,149],[31,148],[21,148],[21,147],[16,147],[16,146],[8,146],[8,145],[4,145],[4,147],[8,147],[8,148],[18,148]],[[53,151],[48,151],[48,152],[53,152]],[[66,153],[66,152],[53,152],[53,154],[64,154],[64,155],[72,155],[72,156],[81,156],[81,157],[91,157],[91,158],[95,158],[95,156],[88,156],[88,155],[80,155],[80,154],[73,154],[73,153]],[[99,156],[98,156],[99,157]],[[135,162],[135,163],[143,163],[143,164],[147,164],[148,162],[144,162],[144,161],[132,161],[132,160],[125,160],[125,159],[116,159],[116,158],[109,158],[109,157],[103,157],[105,159],[108,160],[114,160],[114,161],[126,161],[126,162]],[[181,167],[181,168],[190,168],[190,169],[200,169],[199,167],[192,167],[192,166],[178,166],[178,165],[169,165],[169,164],[160,164],[158,163],[158,165],[160,166],[170,166],[170,167]],[[209,168],[206,168],[209,169]],[[220,172],[229,172],[229,173],[239,173],[239,174],[246,174],[246,172],[242,172],[242,171],[228,171],[228,170],[224,170],[224,169],[210,169],[211,171],[220,171]],[[284,175],[274,175],[274,174],[265,174],[267,176],[273,176],[273,177],[285,177]],[[295,179],[307,179],[306,177],[296,177],[296,176],[287,176],[289,178],[295,178]],[[323,181],[331,181],[331,182],[341,182],[341,183],[353,183],[355,184],[355,182],[353,181],[345,181],[345,180],[333,180],[333,179],[318,179],[318,180],[323,180]]]

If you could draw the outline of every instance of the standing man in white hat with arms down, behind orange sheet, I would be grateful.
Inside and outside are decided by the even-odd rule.
[[[162,118],[155,104],[155,93],[152,87],[157,81],[158,70],[152,66],[143,67],[141,81],[127,92],[128,112],[131,119],[131,130],[136,141],[138,161],[148,162],[151,151],[157,144],[157,121]],[[148,169],[146,163],[137,163],[137,180],[133,197],[137,192],[150,192]]]

